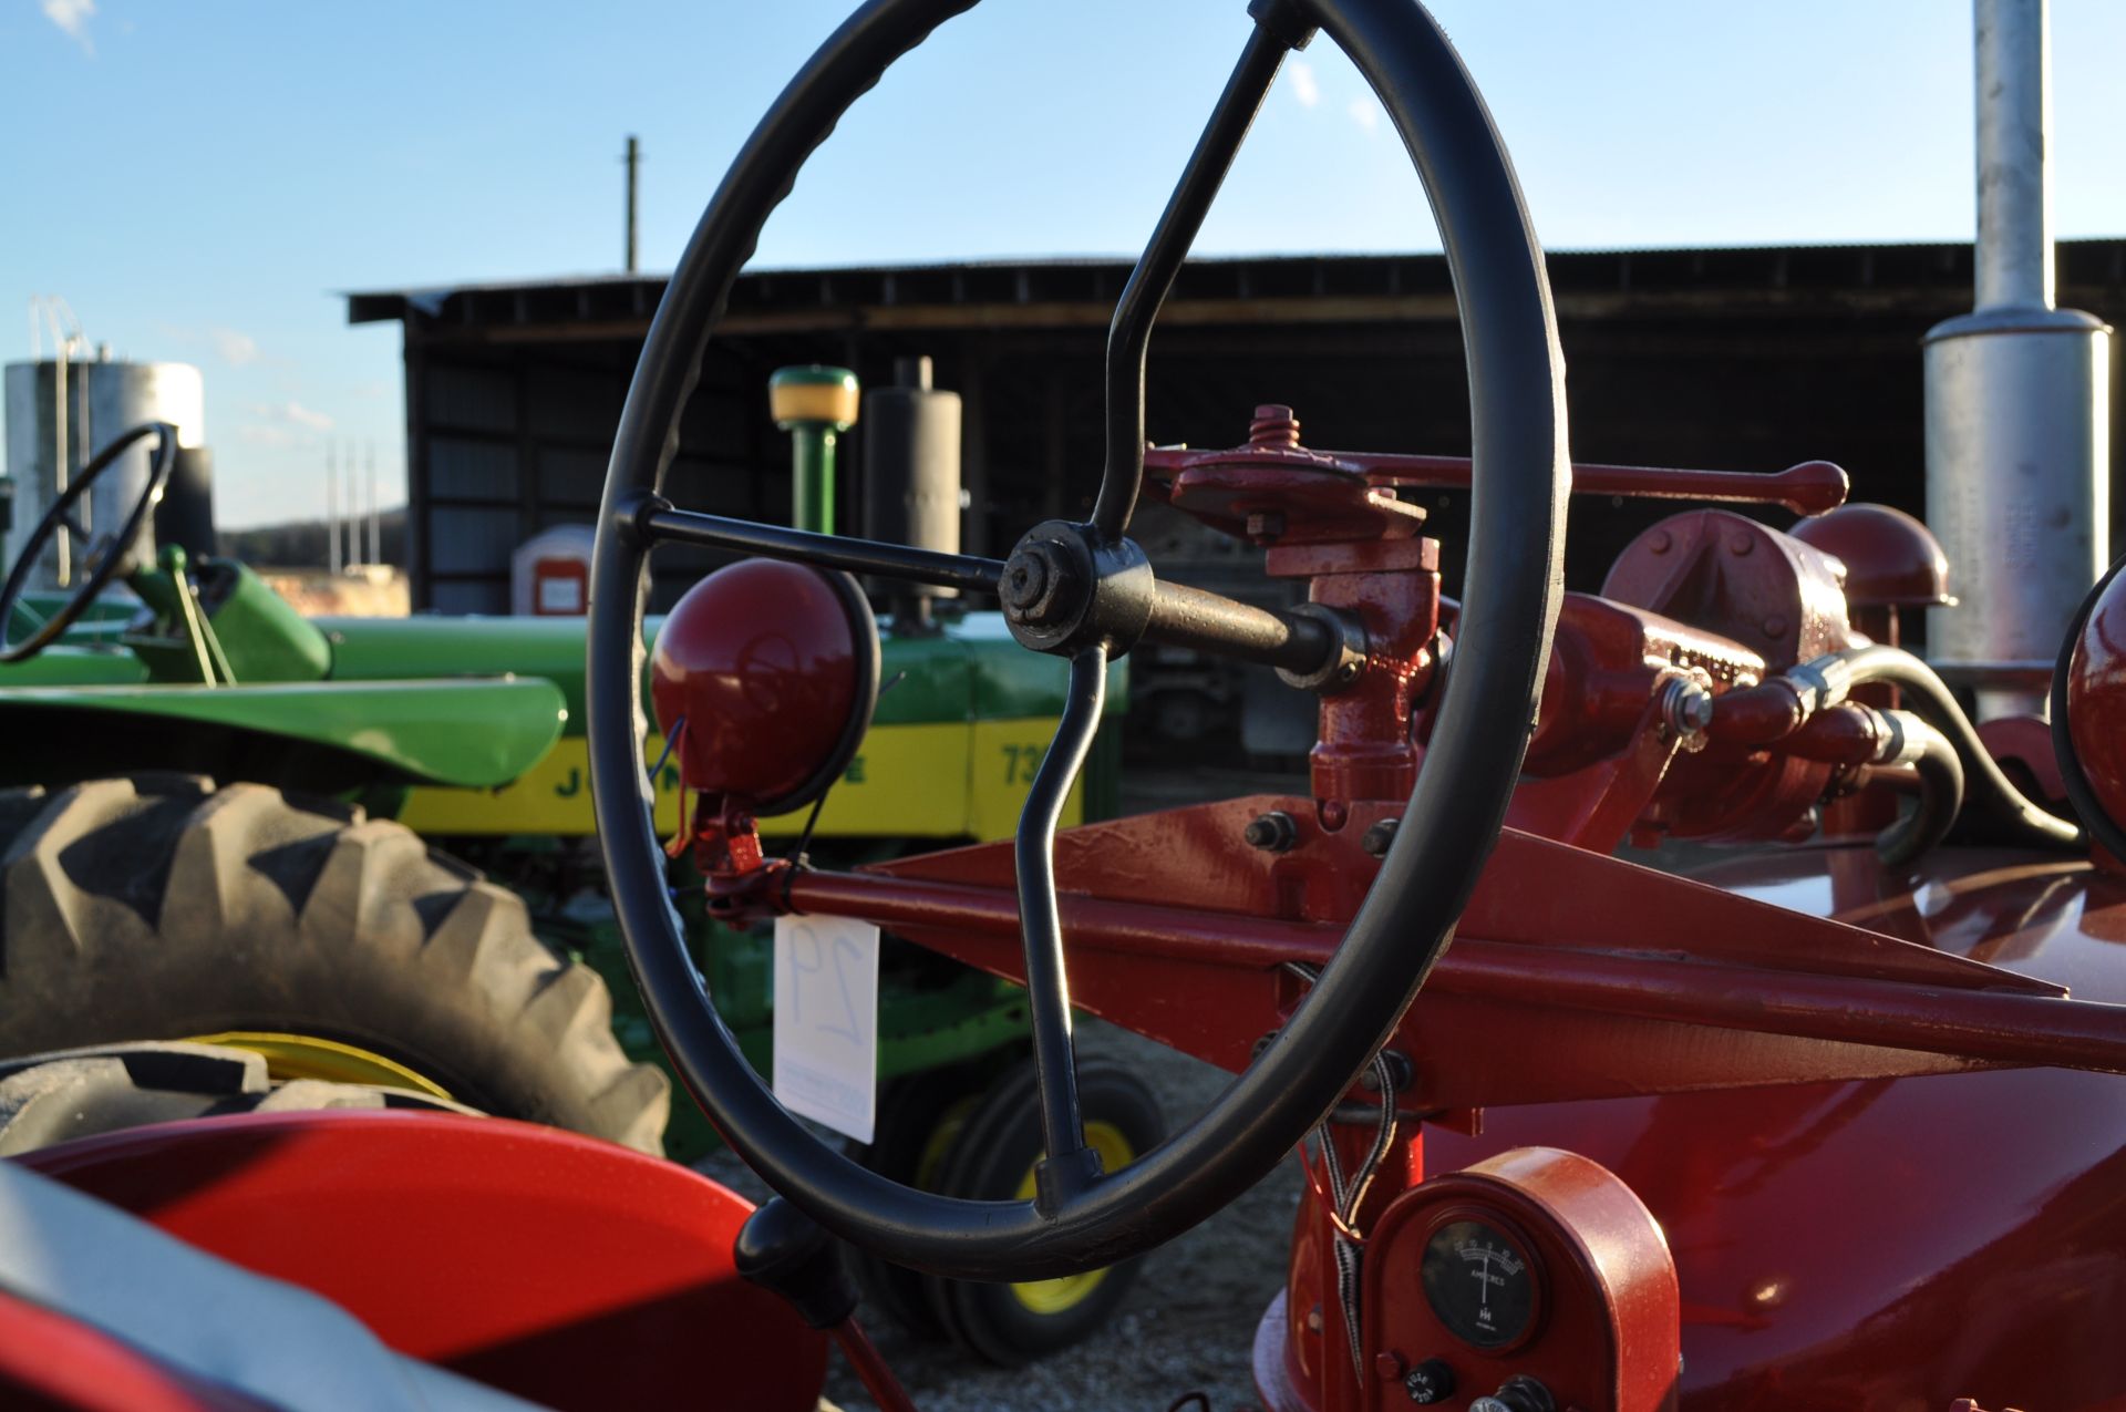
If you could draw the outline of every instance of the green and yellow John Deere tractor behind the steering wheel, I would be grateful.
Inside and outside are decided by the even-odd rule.
[[[787,370],[776,398],[799,512],[827,527],[855,379]],[[153,442],[149,483],[94,538],[79,502],[136,442]],[[372,1085],[682,1161],[710,1150],[693,1106],[670,1102],[602,897],[583,619],[304,619],[238,561],[153,544],[174,455],[170,427],[106,447],[0,589],[0,1059],[204,1040],[264,1055],[304,1093]],[[30,593],[57,530],[87,547],[85,570],[64,595]],[[106,598],[119,583],[134,604]],[[893,604],[880,651],[872,729],[819,817],[763,831],[836,863],[1010,834],[1061,712],[1059,663],[1016,651],[997,615],[923,602]],[[1125,685],[1116,672],[1110,710]],[[661,755],[644,742],[646,768]],[[1112,812],[1112,744],[1099,755],[1067,821]],[[659,766],[665,827],[678,793],[676,766]],[[712,925],[685,863],[674,897],[719,1010],[767,1072],[767,938]],[[878,1033],[872,1161],[1012,1195],[1040,1150],[1012,1133],[1016,987],[889,938]],[[1123,1163],[1163,1131],[1142,1082],[1110,1087],[1112,1112],[1093,1116]],[[904,1321],[1001,1361],[1074,1342],[1127,1284],[867,1274]]]

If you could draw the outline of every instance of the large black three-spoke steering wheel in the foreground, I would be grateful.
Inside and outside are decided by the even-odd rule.
[[[848,104],[969,4],[874,0],[857,11],[770,108],[695,228],[657,306],[612,449],[591,564],[587,729],[600,844],[629,965],[665,1050],[731,1148],[823,1227],[891,1261],[950,1278],[1035,1280],[1146,1250],[1261,1180],[1388,1040],[1446,948],[1505,817],[1550,657],[1569,491],[1565,368],[1541,247],[1505,147],[1431,15],[1412,0],[1254,0],[1239,64],[1114,315],[1108,461],[1091,523],[1040,525],[1010,561],[995,561],[672,508],[659,489],[678,449],[680,410],[761,223]],[[1152,317],[1284,53],[1316,28],[1386,104],[1454,276],[1478,466],[1461,644],[1403,827],[1335,959],[1284,1031],[1195,1123],[1106,1174],[1078,1121],[1050,844],[1097,725],[1106,661],[1146,636],[1148,623],[1157,629],[1165,591],[1123,538],[1144,476]],[[774,1099],[710,1008],[665,893],[640,753],[644,570],[659,540],[999,593],[1023,644],[1069,657],[1063,719],[1018,827],[1048,1146],[1035,1199],[967,1201],[865,1172]],[[1059,576],[1072,583],[1050,593]]]

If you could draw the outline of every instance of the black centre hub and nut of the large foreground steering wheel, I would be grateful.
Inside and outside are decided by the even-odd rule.
[[[1106,642],[1120,655],[1144,636],[1154,587],[1152,566],[1131,540],[1050,519],[1012,549],[997,598],[1020,646],[1072,655]]]

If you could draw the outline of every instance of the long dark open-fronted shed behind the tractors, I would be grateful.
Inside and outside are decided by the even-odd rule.
[[[2062,306],[2126,317],[2126,240],[2058,251]],[[927,353],[938,385],[965,398],[965,547],[1003,553],[1033,521],[1091,504],[1101,349],[1127,276],[1097,259],[748,272],[704,359],[670,493],[787,519],[767,374],[829,362],[870,387],[895,357]],[[1969,245],[1552,253],[1550,276],[1575,457],[1720,470],[1824,457],[1852,472],[1856,498],[1924,508],[1920,336],[1971,308]],[[404,325],[415,608],[504,612],[510,551],[595,515],[661,293],[661,276],[627,274],[349,296],[349,321]],[[1446,259],[1188,264],[1152,338],[1150,436],[1239,442],[1256,402],[1293,404],[1316,447],[1467,453]],[[840,478],[848,525],[857,442]],[[1433,508],[1452,574],[1461,506]],[[1573,587],[1663,512],[1577,506]],[[708,564],[659,551],[657,602]]]

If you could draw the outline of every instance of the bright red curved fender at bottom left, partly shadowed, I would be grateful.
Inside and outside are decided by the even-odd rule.
[[[546,1406],[691,1406],[712,1380],[725,1406],[808,1412],[825,1384],[827,1338],[733,1267],[753,1204],[595,1138],[261,1112],[17,1161]]]

